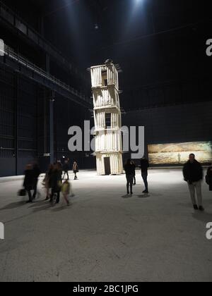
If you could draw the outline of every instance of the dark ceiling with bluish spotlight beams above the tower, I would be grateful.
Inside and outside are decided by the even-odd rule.
[[[212,38],[210,1],[197,0],[6,0],[78,66],[112,58],[122,66],[130,92],[210,78],[206,39]],[[34,16],[34,17],[33,17]],[[35,17],[36,16],[36,17]],[[211,34],[211,35],[210,35]]]

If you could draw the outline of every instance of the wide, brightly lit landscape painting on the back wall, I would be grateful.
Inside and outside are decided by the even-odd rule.
[[[201,164],[212,163],[212,142],[148,145],[150,164],[184,164],[191,153]]]

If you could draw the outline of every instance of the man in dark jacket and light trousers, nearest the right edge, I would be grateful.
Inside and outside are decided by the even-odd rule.
[[[189,160],[184,164],[183,168],[184,180],[188,183],[189,192],[192,198],[192,204],[195,210],[204,211],[202,205],[201,180],[203,179],[203,168],[201,164],[196,161],[195,154],[189,155]],[[197,196],[197,203],[195,197]]]

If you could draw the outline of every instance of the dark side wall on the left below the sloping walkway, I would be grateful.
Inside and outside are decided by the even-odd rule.
[[[47,170],[49,158],[49,101],[52,92],[8,68],[0,68],[0,177],[22,175],[25,165],[39,161]],[[68,150],[71,125],[83,128],[90,111],[55,94],[54,160],[77,160],[80,168],[93,167],[93,157]]]

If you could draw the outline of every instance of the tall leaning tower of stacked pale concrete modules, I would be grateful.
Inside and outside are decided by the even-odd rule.
[[[112,61],[90,68],[98,175],[123,173],[119,75]]]

